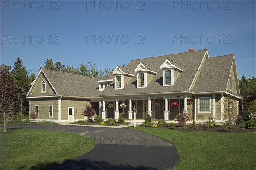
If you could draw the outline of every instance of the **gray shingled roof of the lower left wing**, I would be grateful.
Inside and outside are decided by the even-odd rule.
[[[45,68],[42,69],[59,95],[79,97],[99,96],[99,83],[96,78]]]

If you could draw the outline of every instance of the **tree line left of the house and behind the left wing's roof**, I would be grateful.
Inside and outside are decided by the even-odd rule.
[[[105,77],[110,73],[110,69],[108,68],[105,71],[102,69],[98,70],[93,62],[73,67],[65,66],[59,61],[53,63],[52,59],[47,59],[39,69],[41,68],[96,78]],[[17,118],[22,116],[22,114],[29,115],[29,100],[26,99],[26,95],[35,78],[35,74],[31,73],[29,75],[29,70],[23,66],[23,61],[19,57],[13,66],[0,65],[0,119],[3,120],[4,113],[6,113],[8,119]]]

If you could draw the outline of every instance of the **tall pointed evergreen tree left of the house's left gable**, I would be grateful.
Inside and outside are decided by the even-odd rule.
[[[14,66],[12,69],[12,77],[15,82],[15,88],[18,91],[19,94],[19,110],[20,115],[22,113],[23,109],[23,101],[27,100],[26,99],[26,94],[29,91],[30,88],[30,83],[29,83],[29,77],[28,77],[28,72],[26,71],[26,68],[23,66],[22,59],[19,57],[17,60],[14,62]]]

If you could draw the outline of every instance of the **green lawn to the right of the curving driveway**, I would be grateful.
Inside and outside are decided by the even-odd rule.
[[[148,127],[124,127],[172,143],[180,160],[174,170],[256,170],[256,132],[184,132]]]

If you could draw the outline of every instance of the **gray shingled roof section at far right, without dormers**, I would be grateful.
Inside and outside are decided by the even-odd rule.
[[[192,91],[226,91],[233,58],[234,54],[207,58]]]

